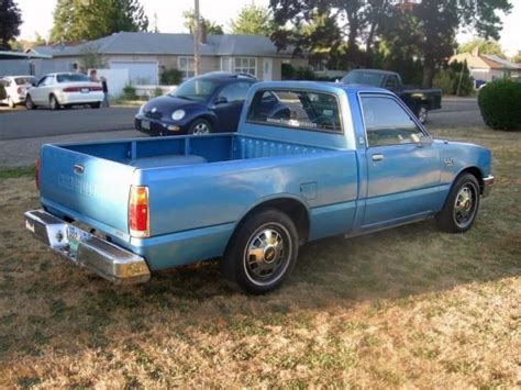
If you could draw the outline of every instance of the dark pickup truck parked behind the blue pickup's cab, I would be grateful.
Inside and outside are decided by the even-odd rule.
[[[342,78],[343,83],[364,85],[388,89],[395,92],[417,115],[421,123],[429,119],[429,111],[442,108],[442,90],[437,88],[407,89],[395,71],[377,69],[351,70]]]

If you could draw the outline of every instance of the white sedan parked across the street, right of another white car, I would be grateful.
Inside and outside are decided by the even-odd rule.
[[[33,110],[44,105],[51,110],[89,104],[99,109],[103,101],[103,91],[99,82],[92,82],[86,75],[63,73],[48,74],[36,86],[27,90],[25,107]]]

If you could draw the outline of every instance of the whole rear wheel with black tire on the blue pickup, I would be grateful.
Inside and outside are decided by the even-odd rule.
[[[221,260],[221,272],[233,288],[266,293],[286,280],[295,268],[298,250],[297,229],[289,216],[264,209],[237,226]]]

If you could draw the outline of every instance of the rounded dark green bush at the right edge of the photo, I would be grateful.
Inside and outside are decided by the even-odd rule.
[[[521,82],[488,82],[479,90],[478,104],[483,120],[494,130],[521,130]]]

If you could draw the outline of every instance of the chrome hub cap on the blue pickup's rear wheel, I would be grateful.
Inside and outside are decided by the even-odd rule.
[[[282,233],[275,227],[262,229],[252,236],[246,248],[246,271],[254,280],[270,279],[278,274],[287,255]]]

